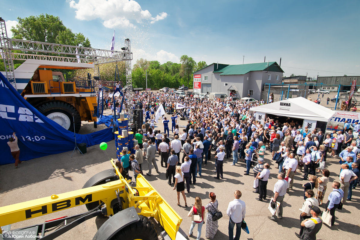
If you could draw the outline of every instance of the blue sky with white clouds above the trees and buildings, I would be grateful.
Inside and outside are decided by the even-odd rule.
[[[282,58],[285,75],[360,76],[359,0],[1,0],[17,17],[57,15],[96,48],[129,38],[134,61],[242,64]],[[9,27],[8,27],[9,28]],[[327,72],[330,71],[330,72]]]

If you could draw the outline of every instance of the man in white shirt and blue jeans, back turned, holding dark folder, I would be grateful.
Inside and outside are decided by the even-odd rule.
[[[240,200],[241,192],[234,192],[235,199],[229,203],[226,214],[229,216],[229,240],[239,240],[241,234],[241,224],[245,218],[246,206],[245,202]],[[236,224],[236,234],[234,237],[234,227]]]

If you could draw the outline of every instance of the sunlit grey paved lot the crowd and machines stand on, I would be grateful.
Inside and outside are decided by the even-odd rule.
[[[84,125],[93,126],[92,123],[84,123]],[[180,126],[185,125],[185,121],[180,121]],[[88,130],[82,131],[93,131],[91,127],[87,127],[88,126],[84,126],[83,129]],[[162,127],[157,129],[163,130]],[[33,159],[20,165],[18,169],[14,169],[13,164],[0,166],[0,206],[2,207],[50,196],[52,194],[60,194],[81,189],[91,176],[111,168],[109,158],[116,157],[114,140],[108,142],[107,153],[100,150],[98,145],[87,148],[87,154],[84,156],[81,154],[74,154],[74,156],[70,158],[71,153],[72,151]],[[268,196],[273,195],[272,190],[277,180],[276,175],[278,172],[278,169],[274,168],[275,166],[270,158],[271,155],[266,153],[265,161],[271,166],[271,175],[267,185]],[[176,205],[176,191],[173,191],[172,187],[167,185],[167,180],[165,180],[165,168],[161,168],[159,159],[160,156],[157,155],[160,173],[155,173],[150,177],[145,175],[145,177],[183,218],[181,228],[188,233],[191,220],[187,217],[187,213],[190,210],[190,207],[184,207],[183,199],[180,199],[181,207]],[[338,179],[337,176],[340,168],[337,163],[338,159],[329,158],[328,160],[325,167],[328,168],[332,174],[330,176],[325,199],[327,199],[331,190],[330,182]],[[231,163],[232,159],[226,159],[224,162],[224,180],[216,180],[213,178],[215,173],[213,173],[212,170],[214,170],[215,164],[212,158],[207,166],[203,166],[203,176],[197,178],[197,184],[191,185],[190,193],[186,193],[189,206],[194,203],[194,198],[196,196],[201,197],[203,205],[206,205],[209,202],[208,194],[210,192],[216,194],[217,200],[219,201],[219,210],[221,210],[224,217],[219,220],[219,231],[214,239],[223,240],[228,238],[229,217],[226,216],[226,208],[228,207],[229,201],[233,200],[234,190],[242,191],[241,199],[246,203],[247,212],[245,221],[247,222],[250,231],[250,234],[246,234],[242,231],[240,239],[283,239],[284,236],[287,236],[287,239],[297,239],[294,232],[298,232],[300,228],[299,216],[301,212],[299,208],[302,207],[303,203],[302,184],[306,183],[306,181],[300,180],[300,174],[297,173],[295,177],[294,191],[291,191],[285,196],[284,218],[276,223],[267,218],[270,216],[270,212],[267,209],[269,200],[266,202],[255,200],[258,195],[252,193],[254,177],[253,175],[243,175],[245,163],[241,163],[237,166],[230,166]],[[143,166],[143,170],[145,170],[144,173],[146,173],[148,167],[145,164],[143,164]],[[326,203],[326,200],[324,200],[324,202]],[[324,209],[324,206],[325,204],[323,204],[321,210]],[[335,226],[329,228],[328,226],[323,225],[317,235],[317,239],[358,239],[358,235],[360,234],[359,207],[360,193],[359,189],[356,189],[353,191],[353,200],[348,202],[347,205],[344,205],[341,211],[336,211],[337,218]],[[85,205],[15,223],[12,225],[12,229],[81,212],[86,212]],[[66,234],[58,237],[58,239],[92,239],[97,228],[99,228],[103,222],[104,220],[100,218],[89,219]],[[205,239],[205,229],[206,226],[204,225],[202,228],[202,239]],[[194,229],[194,234],[196,234],[196,227]]]

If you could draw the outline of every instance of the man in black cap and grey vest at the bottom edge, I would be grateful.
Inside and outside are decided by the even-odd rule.
[[[301,222],[301,226],[304,227],[304,231],[300,236],[301,240],[316,239],[316,234],[320,231],[321,226],[323,226],[323,220],[319,217],[321,213],[320,208],[316,206],[309,206],[309,208],[311,218]]]

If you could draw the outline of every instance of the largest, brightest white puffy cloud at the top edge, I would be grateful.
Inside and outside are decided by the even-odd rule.
[[[148,10],[142,10],[141,6],[134,0],[78,0],[78,3],[71,0],[69,6],[76,9],[75,17],[77,19],[100,18],[107,28],[135,28],[135,22],[150,21],[150,23],[155,23],[167,17],[165,12],[152,17]]]

